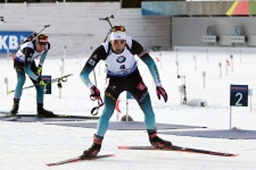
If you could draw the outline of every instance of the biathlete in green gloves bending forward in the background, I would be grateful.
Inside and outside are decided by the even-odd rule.
[[[17,73],[17,85],[14,94],[13,107],[7,116],[15,116],[19,110],[22,88],[26,81],[26,75],[31,79],[37,90],[37,114],[40,117],[55,117],[52,111],[43,108],[43,86],[47,85],[41,79],[42,66],[47,52],[50,50],[48,36],[39,34],[35,40],[25,42],[14,56],[14,68]],[[36,66],[35,59],[40,57],[39,65]]]

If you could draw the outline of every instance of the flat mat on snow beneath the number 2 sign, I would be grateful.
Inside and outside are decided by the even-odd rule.
[[[225,138],[225,139],[256,139],[256,131],[252,130],[203,130],[203,131],[175,131],[159,132],[165,135],[193,136],[207,138]]]

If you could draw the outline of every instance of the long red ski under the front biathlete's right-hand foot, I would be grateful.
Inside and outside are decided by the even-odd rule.
[[[170,148],[170,149],[158,149],[158,148],[155,148],[155,147],[152,147],[152,146],[118,146],[118,149],[121,149],[121,150],[180,151],[180,152],[188,152],[188,153],[210,154],[210,155],[216,155],[216,156],[238,156],[238,154],[234,154],[234,153],[222,153],[222,152],[216,152],[216,151],[181,147],[181,146],[176,146],[176,145],[173,145],[173,147]]]

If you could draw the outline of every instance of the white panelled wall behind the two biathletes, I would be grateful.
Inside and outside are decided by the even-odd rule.
[[[143,17],[141,9],[121,9],[119,2],[3,3],[0,15],[7,22],[0,31],[37,32],[50,24],[43,32],[51,42],[49,55],[63,55],[65,46],[66,55],[79,55],[103,42],[110,26],[98,18],[112,14],[112,24],[125,26],[145,48],[171,49],[171,17]]]

